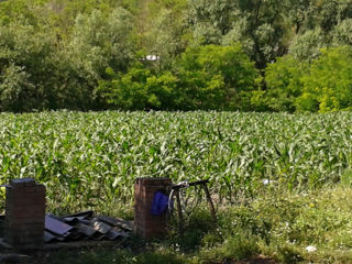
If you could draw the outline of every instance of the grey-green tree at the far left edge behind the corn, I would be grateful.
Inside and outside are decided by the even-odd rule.
[[[54,41],[50,32],[11,22],[0,26],[0,108],[29,111],[55,101],[52,70]]]

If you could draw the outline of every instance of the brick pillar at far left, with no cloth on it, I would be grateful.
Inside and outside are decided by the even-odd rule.
[[[45,187],[32,178],[13,179],[6,194],[6,241],[14,249],[44,245]]]

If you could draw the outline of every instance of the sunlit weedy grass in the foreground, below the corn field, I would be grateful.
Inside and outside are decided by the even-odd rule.
[[[351,263],[352,189],[326,188],[300,195],[258,197],[246,206],[228,206],[211,228],[205,208],[196,211],[184,237],[131,239],[123,249],[52,253],[42,263],[234,263],[258,255],[270,263]],[[306,248],[314,245],[316,252]],[[268,262],[267,262],[268,263]]]

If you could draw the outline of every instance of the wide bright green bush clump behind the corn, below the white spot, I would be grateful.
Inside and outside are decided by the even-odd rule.
[[[174,73],[142,63],[107,73],[98,91],[119,109],[246,110],[257,78],[240,45],[187,48]]]

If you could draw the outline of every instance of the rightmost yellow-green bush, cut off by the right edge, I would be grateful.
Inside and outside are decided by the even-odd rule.
[[[309,72],[301,77],[302,95],[298,111],[329,112],[352,107],[352,48],[341,46],[321,50]]]

